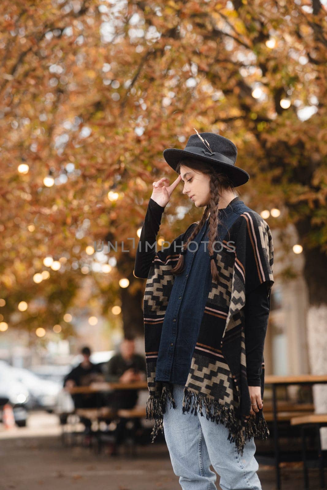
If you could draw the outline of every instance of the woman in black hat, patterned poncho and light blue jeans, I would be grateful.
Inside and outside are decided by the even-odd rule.
[[[136,277],[147,278],[152,442],[161,428],[184,490],[216,489],[210,464],[223,490],[261,489],[253,438],[269,435],[262,398],[271,232],[235,191],[249,174],[235,166],[230,140],[197,132],[184,150],[163,154],[178,177],[172,185],[166,177],[152,184],[134,268]],[[183,194],[204,211],[157,250],[161,216],[180,180]]]

